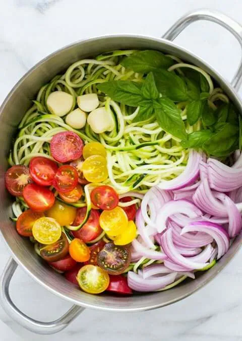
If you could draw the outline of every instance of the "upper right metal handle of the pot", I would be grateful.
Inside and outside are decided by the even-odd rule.
[[[187,26],[199,20],[212,21],[226,28],[237,39],[242,48],[242,26],[222,13],[208,9],[201,9],[187,13],[185,16],[181,17],[173,26],[171,26],[171,28],[162,36],[162,38],[172,41]],[[241,82],[242,59],[240,60],[238,69],[231,81],[231,85],[235,88],[235,90],[238,90]]]

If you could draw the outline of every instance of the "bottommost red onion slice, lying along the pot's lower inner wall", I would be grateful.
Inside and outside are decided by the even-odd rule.
[[[156,291],[174,282],[176,275],[176,272],[172,272],[172,274],[168,274],[166,276],[143,279],[141,275],[137,275],[135,272],[129,271],[128,286],[135,291]]]

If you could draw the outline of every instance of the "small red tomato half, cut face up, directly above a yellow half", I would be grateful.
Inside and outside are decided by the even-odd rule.
[[[101,210],[113,210],[118,204],[118,194],[112,187],[102,185],[91,191],[91,200]]]

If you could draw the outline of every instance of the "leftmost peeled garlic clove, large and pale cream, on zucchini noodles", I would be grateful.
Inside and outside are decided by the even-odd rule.
[[[46,104],[52,114],[62,117],[72,109],[73,97],[64,91],[54,91],[47,98]]]

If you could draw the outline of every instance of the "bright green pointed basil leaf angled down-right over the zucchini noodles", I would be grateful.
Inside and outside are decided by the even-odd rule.
[[[181,140],[187,139],[185,124],[175,104],[168,98],[159,98],[155,106],[156,119],[166,132]]]

